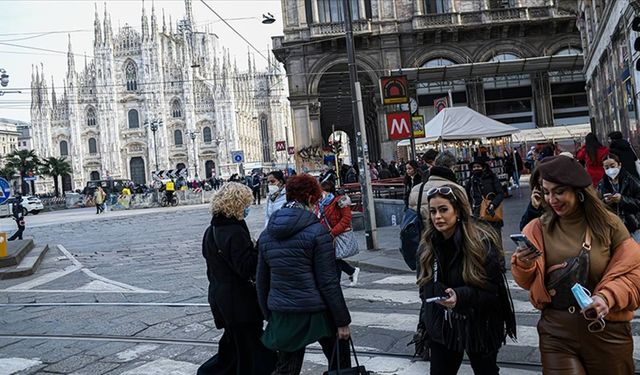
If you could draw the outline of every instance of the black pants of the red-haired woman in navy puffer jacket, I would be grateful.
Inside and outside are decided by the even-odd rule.
[[[335,357],[333,351],[336,346],[335,337],[323,337],[318,340],[318,343],[322,347],[324,356],[327,357],[327,361],[331,362],[331,357]],[[304,351],[306,348],[302,348],[295,352],[278,352],[278,363],[276,370],[272,375],[298,375],[302,371],[302,364],[304,362]],[[340,340],[339,347],[340,368],[345,369],[351,367],[351,350],[349,348],[349,340]],[[334,358],[330,363],[331,370],[338,368],[338,359]]]

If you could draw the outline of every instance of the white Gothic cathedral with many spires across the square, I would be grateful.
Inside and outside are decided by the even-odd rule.
[[[291,129],[286,82],[269,62],[258,71],[249,54],[240,72],[216,34],[198,30],[191,0],[175,24],[144,3],[140,31],[112,30],[106,6],[94,21],[94,58],[78,66],[69,39],[62,88],[49,90],[44,66],[32,74],[32,142],[41,157],[65,156],[65,191],[86,181],[130,178],[148,184],[152,171],[187,168],[190,178],[238,171],[245,162],[284,165],[274,140]],[[259,122],[261,121],[261,122]],[[264,131],[260,131],[260,126]],[[47,184],[45,180],[45,184]],[[49,186],[45,186],[48,189]]]

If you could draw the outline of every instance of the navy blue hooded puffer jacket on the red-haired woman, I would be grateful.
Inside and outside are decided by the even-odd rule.
[[[308,313],[328,311],[337,327],[351,322],[336,273],[333,238],[318,217],[302,208],[276,211],[259,239],[256,287],[260,308]]]

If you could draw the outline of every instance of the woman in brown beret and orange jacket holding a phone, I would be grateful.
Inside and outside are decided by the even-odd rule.
[[[549,157],[539,170],[546,211],[524,228],[533,246],[516,250],[511,272],[542,310],[543,372],[633,374],[629,322],[640,306],[640,246],[577,161]],[[582,308],[576,284],[591,295]]]

